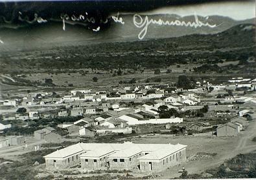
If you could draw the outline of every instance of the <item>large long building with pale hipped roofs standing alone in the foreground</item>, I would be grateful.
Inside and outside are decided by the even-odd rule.
[[[165,170],[186,161],[186,145],[78,143],[45,155],[47,168]]]

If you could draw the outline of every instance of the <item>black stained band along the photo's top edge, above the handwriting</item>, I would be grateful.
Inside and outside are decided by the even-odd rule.
[[[227,0],[226,0],[227,1]],[[18,15],[32,19],[38,14],[45,19],[58,19],[60,14],[85,14],[97,22],[114,12],[143,12],[156,8],[213,2],[210,0],[90,0],[90,1],[1,1],[0,23],[18,23]],[[216,0],[214,0],[216,2]],[[222,1],[223,2],[223,1]],[[230,2],[230,1],[229,1]],[[22,12],[22,15],[19,14]],[[20,23],[20,22],[19,22]]]

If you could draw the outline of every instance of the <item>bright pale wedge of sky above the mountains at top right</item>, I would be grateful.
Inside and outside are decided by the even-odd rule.
[[[143,14],[178,14],[193,15],[223,15],[235,20],[251,19],[255,17],[255,1],[229,1],[216,3],[202,3],[196,5],[169,6],[144,12]]]

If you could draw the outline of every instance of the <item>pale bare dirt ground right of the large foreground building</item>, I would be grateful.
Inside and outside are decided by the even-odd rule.
[[[256,144],[251,141],[256,136],[256,115],[252,115],[253,121],[250,121],[248,127],[241,131],[237,137],[154,135],[151,137],[134,138],[132,141],[134,143],[180,143],[187,145],[187,156],[197,152],[216,153],[217,155],[213,159],[187,160],[187,162],[179,166],[155,173],[160,175],[159,179],[170,179],[180,176],[181,174],[178,171],[181,170],[182,166],[185,166],[189,174],[200,174],[207,169],[221,165],[226,159],[256,150]]]

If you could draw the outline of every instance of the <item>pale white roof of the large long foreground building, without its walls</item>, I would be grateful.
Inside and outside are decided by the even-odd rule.
[[[100,157],[104,154],[110,154],[111,158],[129,158],[141,152],[149,152],[150,154],[143,156],[145,159],[154,157],[155,159],[162,158],[166,154],[172,154],[178,150],[185,148],[185,145],[170,145],[170,144],[134,144],[126,142],[122,144],[113,143],[77,143],[76,145],[68,146],[61,150],[56,150],[51,154],[45,155],[45,158],[65,158],[74,154],[82,154],[81,157]],[[113,152],[113,154],[111,154]],[[115,152],[115,153],[114,153]],[[150,156],[149,156],[150,155]],[[141,159],[143,158],[141,157]]]

